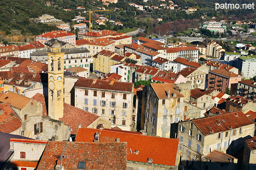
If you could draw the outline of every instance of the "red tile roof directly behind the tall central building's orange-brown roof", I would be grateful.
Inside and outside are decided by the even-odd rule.
[[[152,78],[152,80],[166,82],[166,83],[174,83],[180,74],[174,72],[166,72],[166,71],[159,71],[156,76]]]

